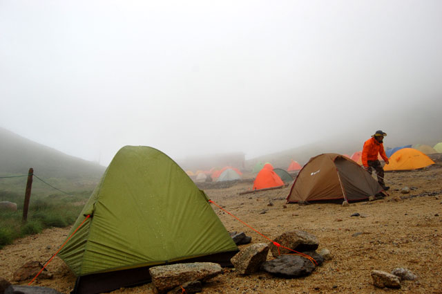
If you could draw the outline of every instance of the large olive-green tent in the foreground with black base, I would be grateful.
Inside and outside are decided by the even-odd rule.
[[[59,257],[78,277],[74,293],[150,282],[148,268],[162,264],[227,266],[238,252],[204,192],[169,156],[144,146],[117,152],[73,232]]]

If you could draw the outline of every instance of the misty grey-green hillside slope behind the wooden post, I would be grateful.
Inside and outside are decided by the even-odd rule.
[[[27,174],[32,167],[37,176],[60,189],[89,190],[95,187],[106,169],[96,163],[35,143],[1,127],[0,142],[0,176]],[[23,178],[2,179],[0,190],[24,191],[22,182]]]

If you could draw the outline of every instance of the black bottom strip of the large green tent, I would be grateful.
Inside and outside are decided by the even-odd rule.
[[[215,262],[223,267],[232,266],[230,259],[236,255],[238,250],[216,253],[213,255],[205,255],[175,261],[171,263],[158,264],[182,264],[190,262]],[[113,291],[122,287],[131,287],[151,282],[152,278],[149,274],[149,268],[152,266],[144,266],[141,268],[131,268],[128,270],[117,270],[108,273],[96,273],[92,275],[84,275],[77,277],[75,288],[71,294],[96,294]]]

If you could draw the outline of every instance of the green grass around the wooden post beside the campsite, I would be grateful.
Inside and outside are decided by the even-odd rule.
[[[86,203],[91,191],[80,191],[49,196],[31,195],[28,221],[23,223],[23,194],[0,191],[0,201],[17,203],[17,211],[0,210],[0,249],[17,238],[35,235],[45,228],[65,228],[77,219],[82,203]]]

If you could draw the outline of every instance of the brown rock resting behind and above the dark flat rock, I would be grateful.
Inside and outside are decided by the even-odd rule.
[[[316,250],[319,246],[319,241],[316,236],[309,234],[302,230],[296,230],[291,232],[285,232],[282,235],[276,237],[273,241],[298,252]],[[285,253],[292,252],[286,248],[278,247],[273,243],[270,243],[271,254],[274,257]]]

